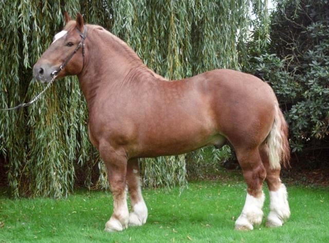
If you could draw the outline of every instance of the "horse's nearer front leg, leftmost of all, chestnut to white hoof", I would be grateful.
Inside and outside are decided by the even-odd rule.
[[[105,224],[105,231],[121,231],[127,228],[129,211],[126,200],[126,170],[127,158],[123,149],[114,149],[107,143],[100,144],[99,153],[103,159],[108,182],[113,195],[113,214]]]

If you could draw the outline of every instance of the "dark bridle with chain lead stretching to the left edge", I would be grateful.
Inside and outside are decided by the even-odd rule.
[[[79,32],[79,35],[81,36],[81,42],[79,42],[79,44],[77,45],[77,47],[74,49],[74,51],[71,52],[71,54],[67,57],[67,59],[61,64],[61,66],[59,66],[59,68],[55,71],[53,71],[51,73],[51,80],[50,82],[47,84],[47,86],[40,92],[39,95],[37,95],[33,100],[27,102],[27,103],[22,103],[22,104],[19,104],[15,107],[10,107],[10,108],[5,108],[5,109],[0,109],[0,110],[13,110],[13,109],[18,109],[18,108],[21,108],[21,107],[26,107],[26,106],[29,106],[31,104],[33,104],[35,101],[39,100],[40,97],[42,96],[42,94],[51,86],[51,84],[53,83],[53,81],[56,79],[58,73],[60,71],[62,71],[64,69],[64,67],[67,65],[67,63],[72,59],[72,57],[77,53],[77,51],[82,47],[82,69],[83,69],[83,66],[84,66],[84,59],[85,59],[85,52],[84,52],[84,40],[86,39],[87,37],[87,26],[84,25],[83,26],[83,33],[78,29],[76,28],[76,30]]]

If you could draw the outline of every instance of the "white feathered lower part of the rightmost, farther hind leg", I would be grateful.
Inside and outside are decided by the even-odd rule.
[[[288,204],[288,193],[286,186],[281,184],[278,191],[269,191],[270,196],[270,213],[267,217],[266,226],[279,227],[290,217],[290,209]]]

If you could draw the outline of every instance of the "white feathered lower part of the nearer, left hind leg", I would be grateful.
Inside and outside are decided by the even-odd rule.
[[[265,195],[257,198],[247,193],[242,213],[235,221],[236,230],[252,230],[253,225],[260,225],[263,219],[263,204]]]

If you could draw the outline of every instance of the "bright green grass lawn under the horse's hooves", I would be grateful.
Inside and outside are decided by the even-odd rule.
[[[146,225],[104,232],[111,194],[79,191],[67,199],[11,200],[0,196],[0,242],[329,242],[329,190],[288,186],[291,218],[283,227],[234,231],[245,183],[192,182],[179,189],[144,190]],[[264,213],[268,214],[268,191]]]

